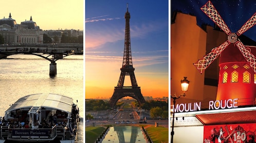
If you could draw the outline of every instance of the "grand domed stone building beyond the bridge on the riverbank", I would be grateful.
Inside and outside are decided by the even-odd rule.
[[[6,44],[43,43],[43,31],[32,20],[32,16],[29,21],[25,20],[19,25],[10,13],[8,18],[0,19],[0,34]]]

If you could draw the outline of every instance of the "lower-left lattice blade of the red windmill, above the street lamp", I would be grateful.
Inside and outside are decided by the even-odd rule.
[[[200,74],[225,50],[225,48],[229,45],[229,41],[227,40],[223,44],[218,47],[212,49],[212,51],[205,55],[202,59],[199,59],[194,66],[197,68]]]

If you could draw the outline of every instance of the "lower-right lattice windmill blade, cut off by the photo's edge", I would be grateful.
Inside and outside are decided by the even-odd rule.
[[[240,50],[240,52],[243,54],[247,62],[250,64],[253,71],[256,73],[256,57],[253,54],[251,54],[249,50],[246,49],[242,42],[236,41],[235,44]]]

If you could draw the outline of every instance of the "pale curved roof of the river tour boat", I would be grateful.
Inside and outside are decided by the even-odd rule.
[[[52,93],[31,94],[17,100],[5,112],[16,109],[30,109],[31,107],[41,107],[45,109],[58,109],[70,113],[72,110],[73,99]]]

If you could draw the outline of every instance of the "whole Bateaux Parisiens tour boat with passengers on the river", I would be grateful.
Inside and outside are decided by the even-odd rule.
[[[73,99],[52,93],[20,98],[1,120],[1,141],[75,142],[79,108]]]

